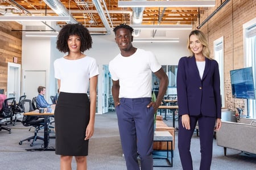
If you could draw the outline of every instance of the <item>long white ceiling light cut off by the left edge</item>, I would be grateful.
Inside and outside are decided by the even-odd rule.
[[[70,16],[0,16],[0,21],[70,21]]]

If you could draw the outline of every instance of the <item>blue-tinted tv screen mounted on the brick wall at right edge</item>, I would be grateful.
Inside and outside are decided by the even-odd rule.
[[[230,70],[232,96],[236,99],[255,99],[253,69]]]

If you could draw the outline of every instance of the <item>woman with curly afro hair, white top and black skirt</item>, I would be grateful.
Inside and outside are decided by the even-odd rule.
[[[60,169],[87,169],[88,142],[94,132],[98,66],[86,56],[92,37],[81,24],[65,25],[57,37],[57,49],[65,53],[54,62],[59,98],[55,108],[56,150]],[[89,90],[89,94],[88,94]],[[88,97],[89,96],[89,97]]]

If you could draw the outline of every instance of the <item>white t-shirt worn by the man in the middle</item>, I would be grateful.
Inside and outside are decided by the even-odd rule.
[[[150,51],[137,49],[129,56],[119,53],[109,62],[109,71],[113,80],[119,80],[119,98],[151,97],[152,72],[162,66]]]

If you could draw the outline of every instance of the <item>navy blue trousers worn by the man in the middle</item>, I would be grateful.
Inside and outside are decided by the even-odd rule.
[[[154,108],[147,108],[151,97],[121,98],[117,112],[118,127],[127,170],[153,169]]]

